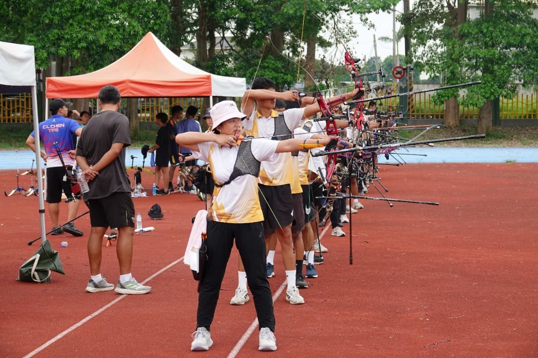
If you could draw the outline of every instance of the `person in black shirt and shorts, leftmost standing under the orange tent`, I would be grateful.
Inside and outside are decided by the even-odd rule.
[[[162,175],[162,189],[157,190],[157,195],[168,195],[169,171],[168,163],[170,162],[170,131],[166,125],[168,114],[160,112],[155,115],[155,123],[159,126],[155,144],[148,149],[148,152],[155,154],[155,185],[159,187]]]

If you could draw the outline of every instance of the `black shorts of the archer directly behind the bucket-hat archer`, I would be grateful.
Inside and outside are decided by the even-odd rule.
[[[264,213],[264,231],[271,235],[278,228],[293,223],[292,188],[285,185],[258,184],[261,212]]]

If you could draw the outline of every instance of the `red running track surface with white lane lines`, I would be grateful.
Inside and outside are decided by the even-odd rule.
[[[214,346],[190,352],[196,283],[180,258],[190,220],[204,207],[194,195],[134,199],[144,226],[155,226],[135,234],[133,274],[139,282],[151,278],[153,287],[140,296],[85,292],[86,239],[68,234],[49,237],[65,276],[53,273],[49,284],[15,281],[37,249],[38,243],[26,243],[40,235],[38,199],[4,196],[0,356],[538,356],[538,164],[409,164],[382,167],[379,174],[387,196],[440,205],[362,201],[365,209],[352,214],[353,264],[345,226],[348,236],[323,238],[329,252],[316,266],[320,277],[301,291],[306,304],[292,306],[284,294],[276,299],[275,353],[258,352],[257,327],[248,334],[256,318],[252,300],[229,305],[235,252],[211,326]],[[15,171],[0,171],[0,178],[5,191],[15,188]],[[22,186],[30,181],[19,180]],[[144,174],[143,185],[151,182]],[[148,219],[154,203],[163,220]],[[79,212],[85,210],[82,205]],[[48,213],[46,223],[50,230]],[[76,225],[89,233],[89,216]],[[102,264],[112,283],[119,274],[114,248],[103,247]],[[285,282],[278,248],[275,272],[270,283],[278,293]]]

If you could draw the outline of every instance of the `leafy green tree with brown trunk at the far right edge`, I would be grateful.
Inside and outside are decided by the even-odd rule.
[[[490,130],[495,99],[512,97],[515,83],[538,84],[538,19],[532,12],[537,8],[528,1],[486,0],[479,17],[459,28],[463,66],[470,80],[482,81],[466,96],[468,103],[480,106],[478,133]]]

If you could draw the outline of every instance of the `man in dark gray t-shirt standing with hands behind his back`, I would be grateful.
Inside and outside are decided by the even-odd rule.
[[[86,291],[114,289],[114,284],[101,275],[101,259],[103,235],[108,227],[117,227],[119,281],[115,291],[140,295],[150,292],[151,287],[139,284],[131,275],[134,204],[125,170],[125,147],[131,144],[131,135],[129,119],[117,112],[120,99],[119,90],[113,85],[106,85],[99,91],[101,112],[83,128],[76,148],[76,161],[90,188],[84,194],[91,222],[88,238],[90,280]]]

